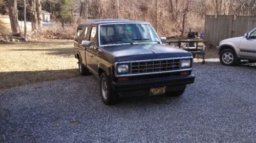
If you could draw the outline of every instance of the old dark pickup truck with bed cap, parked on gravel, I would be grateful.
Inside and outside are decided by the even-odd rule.
[[[183,94],[193,83],[190,52],[163,44],[148,22],[96,19],[82,22],[74,38],[81,75],[99,79],[102,101],[119,96]]]

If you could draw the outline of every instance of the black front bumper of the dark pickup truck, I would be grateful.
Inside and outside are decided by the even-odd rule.
[[[117,92],[136,90],[136,89],[147,89],[152,87],[163,87],[169,85],[186,85],[194,83],[195,75],[175,76],[175,77],[164,77],[146,80],[135,80],[135,81],[121,81],[112,82],[113,89]]]

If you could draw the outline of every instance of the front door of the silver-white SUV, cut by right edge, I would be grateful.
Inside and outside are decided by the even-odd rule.
[[[256,59],[256,30],[248,34],[248,38],[243,38],[239,49],[240,56],[249,59]]]

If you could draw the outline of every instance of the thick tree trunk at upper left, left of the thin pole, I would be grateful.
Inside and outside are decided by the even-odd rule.
[[[18,10],[17,10],[17,0],[9,0],[9,17],[12,27],[12,35],[20,35],[20,28],[18,25]]]

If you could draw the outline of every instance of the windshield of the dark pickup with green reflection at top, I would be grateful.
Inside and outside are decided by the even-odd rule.
[[[102,24],[99,35],[100,45],[160,43],[150,24]]]

